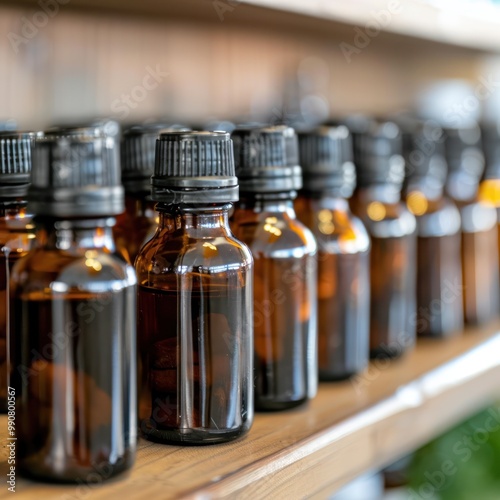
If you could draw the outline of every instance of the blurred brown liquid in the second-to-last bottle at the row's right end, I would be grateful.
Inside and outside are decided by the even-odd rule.
[[[460,233],[417,239],[417,334],[443,337],[463,327]]]

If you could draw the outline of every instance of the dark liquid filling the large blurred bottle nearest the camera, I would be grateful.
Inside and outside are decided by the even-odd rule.
[[[13,301],[17,458],[25,475],[61,482],[106,479],[135,448],[134,288],[41,292]],[[94,477],[94,476],[92,476]]]

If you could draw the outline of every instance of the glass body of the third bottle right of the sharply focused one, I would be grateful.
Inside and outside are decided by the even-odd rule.
[[[396,186],[358,188],[351,208],[371,237],[370,353],[397,357],[416,337],[416,221]]]

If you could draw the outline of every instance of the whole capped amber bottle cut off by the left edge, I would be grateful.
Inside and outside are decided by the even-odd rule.
[[[32,133],[0,132],[0,411],[7,409],[11,369],[10,273],[35,238],[32,216],[26,210],[34,137]]]

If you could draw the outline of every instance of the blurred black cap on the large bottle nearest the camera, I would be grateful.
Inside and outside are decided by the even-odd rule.
[[[99,127],[52,129],[37,138],[28,203],[35,215],[97,217],[122,213],[118,150]]]

